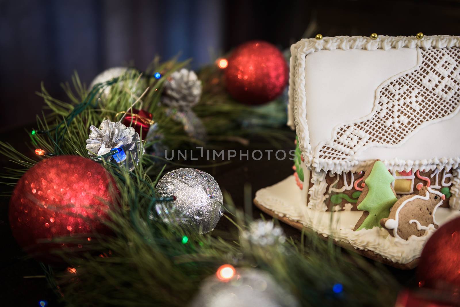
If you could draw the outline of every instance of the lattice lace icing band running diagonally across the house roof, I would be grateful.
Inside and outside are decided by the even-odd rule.
[[[334,129],[318,147],[323,159],[351,159],[365,146],[392,147],[429,122],[448,119],[460,104],[460,49],[419,49],[420,65],[377,90],[374,111]],[[315,155],[316,156],[316,155]]]

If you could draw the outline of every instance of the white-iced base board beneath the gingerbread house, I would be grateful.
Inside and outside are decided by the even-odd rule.
[[[305,203],[301,202],[294,176],[257,191],[255,199],[276,214],[300,222],[325,237],[330,236],[335,240],[349,243],[360,250],[372,250],[393,262],[408,263],[420,257],[423,245],[435,231],[432,227],[425,235],[411,236],[408,240],[394,238],[380,227],[353,231],[362,212],[324,212],[306,208]],[[457,216],[460,216],[458,210],[438,208],[436,211],[436,220],[440,225]]]

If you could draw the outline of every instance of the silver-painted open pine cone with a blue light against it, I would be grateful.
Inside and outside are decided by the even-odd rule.
[[[142,142],[139,134],[134,131],[133,127],[127,128],[121,122],[111,122],[109,119],[104,120],[99,129],[91,125],[91,133],[86,140],[86,149],[91,157],[102,156],[109,153],[113,148],[122,146],[126,153],[126,159],[122,161],[132,171],[134,166],[139,163],[138,152],[144,153]],[[107,161],[112,156],[105,158]],[[101,159],[101,158],[99,158]]]

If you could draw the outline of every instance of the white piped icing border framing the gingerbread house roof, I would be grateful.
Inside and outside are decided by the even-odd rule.
[[[290,72],[289,72],[289,105],[288,125],[296,129],[299,136],[299,148],[305,158],[305,164],[316,171],[328,170],[334,173],[342,171],[361,171],[372,163],[372,161],[350,160],[328,160],[313,158],[310,145],[306,116],[306,95],[305,95],[305,57],[315,51],[334,49],[376,49],[388,50],[390,48],[450,48],[460,47],[460,37],[439,35],[425,36],[418,40],[416,37],[406,36],[379,36],[377,40],[371,40],[363,36],[336,36],[324,37],[322,40],[304,39],[291,46]],[[294,125],[295,124],[295,125]],[[458,168],[460,157],[454,158],[433,158],[423,160],[382,160],[390,171],[408,171],[410,169],[446,169]]]

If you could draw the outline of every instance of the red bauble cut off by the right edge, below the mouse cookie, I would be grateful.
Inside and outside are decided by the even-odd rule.
[[[439,227],[428,239],[418,276],[424,286],[460,291],[460,217]]]

